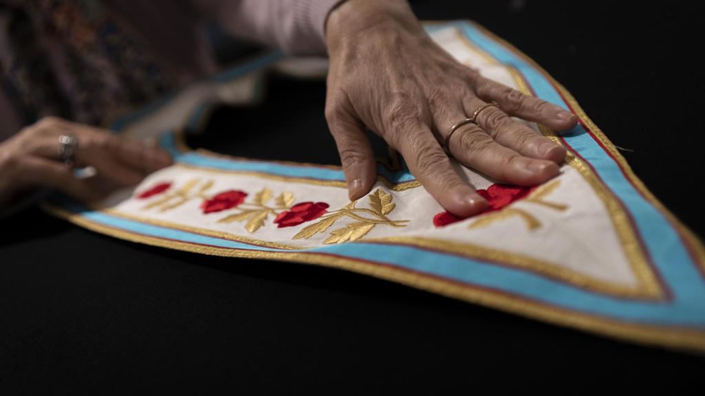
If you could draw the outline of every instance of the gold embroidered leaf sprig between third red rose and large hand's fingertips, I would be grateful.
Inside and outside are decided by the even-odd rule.
[[[353,223],[348,223],[341,228],[332,230],[329,237],[323,241],[326,245],[343,242],[353,242],[367,235],[376,225],[391,225],[392,227],[405,227],[404,223],[408,220],[391,220],[388,214],[394,210],[396,204],[393,201],[392,195],[378,189],[372,194],[369,194],[369,209],[358,208],[357,201],[350,202],[343,208],[329,212],[326,216],[322,216],[321,220],[312,225],[307,225],[292,239],[309,239],[318,234],[325,233],[338,220],[342,218],[351,218],[356,220]]]

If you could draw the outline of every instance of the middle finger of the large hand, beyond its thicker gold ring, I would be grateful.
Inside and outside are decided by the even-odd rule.
[[[495,142],[478,125],[465,125],[450,139],[458,161],[502,182],[537,185],[560,173],[553,161],[522,156]]]

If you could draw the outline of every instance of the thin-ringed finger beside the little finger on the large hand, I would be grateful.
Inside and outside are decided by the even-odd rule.
[[[486,102],[465,97],[463,104],[465,112],[472,116],[477,109],[482,109]],[[562,146],[538,135],[527,125],[515,122],[496,106],[484,107],[477,115],[476,122],[496,142],[523,156],[547,159],[556,163],[563,163],[565,160],[565,149]]]

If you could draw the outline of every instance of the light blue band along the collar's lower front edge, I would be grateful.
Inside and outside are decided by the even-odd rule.
[[[85,211],[86,209],[67,202],[63,202],[62,206],[74,213],[81,214],[87,220],[122,230],[130,230],[142,235],[214,247],[249,249],[261,252],[287,252],[282,249],[257,247],[217,237],[164,228],[159,225],[132,221],[102,212]],[[703,316],[701,304],[654,304],[615,299],[549,280],[535,273],[516,271],[515,269],[497,266],[496,264],[486,264],[482,261],[452,254],[431,252],[416,247],[352,242],[297,250],[295,252],[336,254],[427,273],[432,276],[459,280],[463,283],[482,287],[509,290],[510,292],[517,292],[515,289],[518,288],[522,295],[539,302],[594,314],[616,316],[630,321],[678,326],[705,326],[705,317]]]

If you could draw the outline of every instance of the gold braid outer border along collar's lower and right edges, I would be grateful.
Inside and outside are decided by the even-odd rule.
[[[477,25],[480,29],[484,29]],[[491,35],[491,32],[487,32]],[[494,37],[494,35],[491,35]],[[503,40],[494,37],[497,42],[505,44],[505,47],[512,49],[510,44],[503,42]],[[515,50],[517,51],[517,50]],[[518,52],[518,51],[517,51]],[[537,66],[533,61],[524,56],[527,61]],[[538,68],[538,66],[537,66]],[[539,68],[539,70],[542,70]],[[589,118],[582,112],[580,106],[577,105],[575,99],[565,91],[565,88],[558,85],[547,73],[544,73],[547,78],[553,81],[558,89],[564,94],[566,100],[571,104],[572,108],[575,110],[580,119],[590,128],[593,128]],[[605,144],[608,149],[613,150],[613,145],[603,137],[599,129],[593,130],[596,137]],[[603,141],[604,140],[604,141]],[[695,250],[696,261],[705,268],[705,251],[703,245],[698,240],[697,237],[692,235],[692,233],[685,228],[670,212],[664,208],[658,200],[651,195],[651,193],[646,190],[646,187],[642,185],[642,182],[634,175],[631,169],[624,162],[623,157],[616,153],[614,154],[615,159],[623,166],[627,178],[635,183],[637,190],[642,192],[646,198],[656,206],[657,209],[661,211],[668,219],[675,225],[675,227],[680,230],[684,235],[689,245]],[[296,180],[292,180],[296,181]],[[330,266],[333,268],[343,268],[348,271],[354,271],[357,273],[364,273],[369,276],[375,276],[377,278],[383,278],[387,280],[396,281],[405,285],[410,285],[423,290],[428,290],[429,292],[436,292],[441,295],[446,295],[448,297],[454,297],[458,299],[465,300],[467,302],[473,302],[477,304],[482,304],[488,307],[494,307],[496,309],[502,309],[503,311],[513,312],[515,314],[520,314],[522,316],[529,316],[532,318],[539,318],[550,323],[558,324],[560,326],[569,326],[572,328],[580,328],[582,330],[591,330],[597,333],[602,333],[603,335],[608,335],[613,338],[620,338],[635,342],[642,342],[647,344],[662,345],[678,349],[697,349],[699,351],[705,351],[705,333],[702,330],[690,330],[685,328],[678,328],[675,326],[656,326],[644,323],[629,323],[625,321],[618,321],[610,318],[603,318],[599,316],[594,316],[591,314],[582,314],[577,311],[567,311],[565,309],[559,309],[557,307],[551,307],[546,304],[541,304],[539,302],[530,301],[527,299],[521,299],[514,295],[508,295],[505,293],[492,292],[491,290],[479,289],[477,287],[472,287],[469,285],[461,285],[458,283],[450,283],[447,280],[441,278],[429,278],[419,276],[417,273],[411,271],[405,271],[401,268],[396,268],[394,266],[379,266],[373,263],[367,263],[365,261],[347,259],[343,257],[320,255],[314,253],[306,252],[258,252],[247,249],[228,249],[219,247],[206,247],[202,245],[195,245],[188,242],[178,242],[171,240],[164,240],[158,237],[149,237],[147,235],[140,235],[137,233],[132,233],[125,230],[118,230],[111,228],[94,221],[90,221],[87,218],[82,217],[80,214],[71,214],[63,209],[56,208],[54,206],[49,206],[44,204],[44,209],[51,212],[56,216],[66,218],[75,224],[85,227],[90,230],[94,230],[105,235],[111,235],[114,237],[121,238],[123,240],[130,240],[133,242],[145,243],[147,245],[154,245],[160,247],[167,247],[171,249],[180,249],[188,252],[198,252],[201,254],[215,254],[219,256],[236,256],[245,258],[261,258],[261,259],[272,259],[272,260],[283,260],[283,261],[297,261],[304,262],[308,264],[317,264]],[[423,244],[428,242],[428,240],[419,240],[413,245],[424,246]],[[436,244],[429,245],[429,249],[436,249],[441,247],[443,244],[440,242]],[[265,245],[266,246],[266,245]],[[465,248],[465,244],[462,245]],[[445,247],[443,247],[445,249]],[[522,261],[523,262],[523,261]],[[517,262],[518,263],[518,262]],[[621,292],[621,291],[620,291]]]

